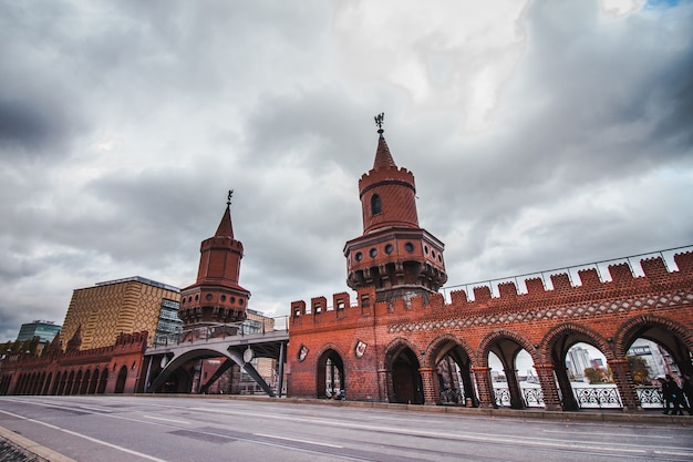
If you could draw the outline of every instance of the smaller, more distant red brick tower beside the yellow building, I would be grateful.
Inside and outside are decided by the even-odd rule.
[[[184,330],[215,327],[215,333],[226,335],[229,329],[218,327],[246,320],[250,291],[238,285],[244,246],[234,238],[231,193],[217,232],[200,245],[197,281],[180,290],[178,317]]]

